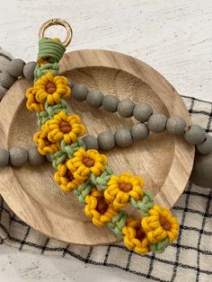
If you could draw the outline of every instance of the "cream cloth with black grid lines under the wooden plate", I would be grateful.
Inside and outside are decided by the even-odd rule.
[[[194,123],[211,133],[212,103],[182,97]],[[212,281],[212,189],[188,184],[172,213],[179,218],[180,234],[162,254],[139,255],[123,243],[102,246],[67,244],[48,238],[22,222],[0,198],[0,244],[40,254],[74,257],[84,263],[123,269],[153,281]]]

